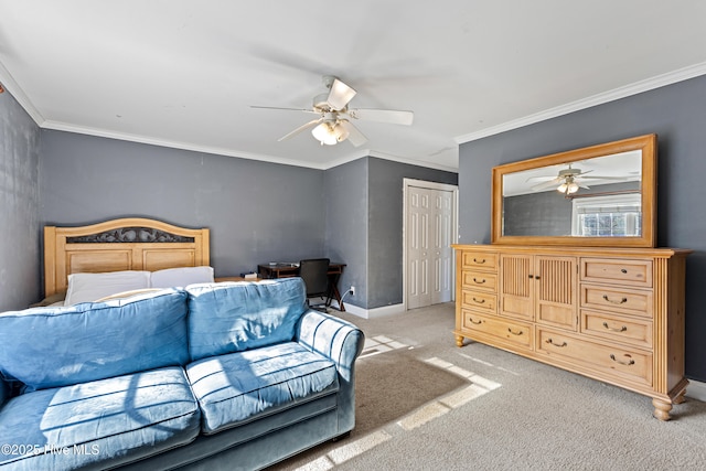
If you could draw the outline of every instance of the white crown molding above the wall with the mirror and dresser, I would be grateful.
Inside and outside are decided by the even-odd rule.
[[[592,95],[587,98],[582,98],[576,101],[571,101],[565,105],[549,108],[544,111],[535,113],[523,118],[513,119],[507,122],[503,122],[498,126],[491,126],[479,131],[470,132],[456,137],[453,140],[456,143],[461,144],[463,142],[470,142],[478,139],[486,138],[490,136],[499,135],[501,132],[511,131],[535,122],[545,121],[547,119],[556,118],[559,116],[568,115],[569,113],[579,111],[581,109],[590,108],[605,103],[614,101],[620,98],[625,98],[632,95],[637,95],[643,92],[649,92],[655,88],[660,88],[666,85],[672,85],[678,82],[687,81],[689,78],[706,75],[706,62],[700,64],[691,65],[688,67],[680,68],[666,74],[657,75],[652,78],[635,82],[623,87],[614,88],[609,92],[603,92],[597,95]]]

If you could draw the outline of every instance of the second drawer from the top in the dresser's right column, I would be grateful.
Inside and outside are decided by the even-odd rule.
[[[581,285],[581,308],[608,310],[652,319],[652,291]]]

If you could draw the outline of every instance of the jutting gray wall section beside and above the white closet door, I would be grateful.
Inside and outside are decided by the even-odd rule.
[[[340,287],[356,287],[345,302],[375,309],[403,302],[404,179],[457,184],[458,174],[365,158],[327,171],[329,251],[347,267]]]

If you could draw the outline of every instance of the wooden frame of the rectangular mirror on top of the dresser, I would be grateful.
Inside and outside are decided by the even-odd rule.
[[[614,142],[591,146],[567,152],[523,160],[493,168],[491,202],[491,243],[505,245],[561,245],[587,247],[654,247],[656,244],[656,135],[639,136]],[[504,236],[503,235],[503,175],[523,170],[613,153],[642,150],[642,231],[637,237],[582,236]]]

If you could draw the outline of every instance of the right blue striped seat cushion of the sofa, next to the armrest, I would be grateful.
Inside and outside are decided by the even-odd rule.
[[[336,392],[335,364],[296,342],[200,360],[186,374],[215,433]]]

